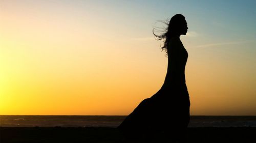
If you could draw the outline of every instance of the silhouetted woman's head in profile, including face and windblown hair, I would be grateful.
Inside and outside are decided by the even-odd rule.
[[[185,17],[182,14],[176,14],[170,20],[163,22],[167,25],[166,28],[162,31],[163,34],[156,35],[154,33],[155,28],[153,29],[153,34],[155,35],[157,40],[163,40],[164,45],[161,47],[162,50],[165,49],[167,53],[167,47],[168,43],[171,37],[179,37],[181,35],[186,35],[187,33],[187,22],[185,20]]]

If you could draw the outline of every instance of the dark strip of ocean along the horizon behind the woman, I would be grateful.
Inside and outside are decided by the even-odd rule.
[[[0,116],[1,127],[117,127],[126,116]],[[188,127],[256,127],[256,116],[191,116]]]

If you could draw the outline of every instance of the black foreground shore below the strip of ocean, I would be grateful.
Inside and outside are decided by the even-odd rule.
[[[116,128],[0,127],[0,142],[112,143],[124,142],[124,139]],[[188,142],[256,142],[256,128],[188,128]]]

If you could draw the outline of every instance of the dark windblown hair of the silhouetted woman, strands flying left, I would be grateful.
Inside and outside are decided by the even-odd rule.
[[[166,55],[168,53],[168,44],[170,41],[170,37],[177,34],[180,30],[179,26],[182,21],[185,20],[185,17],[182,14],[176,14],[170,20],[159,21],[167,25],[166,27],[162,27],[162,31],[157,30],[157,28],[153,28],[153,34],[155,35],[156,40],[161,40],[164,42],[163,46],[161,46],[162,51],[165,50]],[[160,35],[155,34],[154,31],[160,32]],[[161,34],[162,33],[162,34]]]

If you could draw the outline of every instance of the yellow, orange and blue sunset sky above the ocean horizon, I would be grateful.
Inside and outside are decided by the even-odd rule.
[[[256,1],[0,1],[0,115],[128,115],[162,86],[181,13],[191,115],[256,116]],[[157,22],[157,23],[156,23]]]

